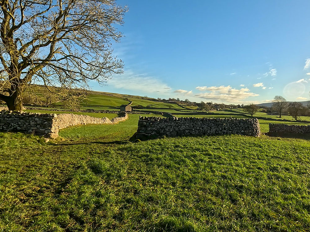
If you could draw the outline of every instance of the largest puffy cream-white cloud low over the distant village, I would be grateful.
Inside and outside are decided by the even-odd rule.
[[[248,88],[241,88],[236,89],[232,88],[231,86],[211,86],[211,87],[200,87],[198,86],[197,89],[203,91],[207,90],[210,92],[200,93],[195,95],[195,97],[209,99],[209,100],[216,100],[216,101],[227,101],[227,102],[238,102],[241,101],[247,97],[256,97],[259,96],[259,94],[255,94],[252,92],[249,92],[250,90]]]

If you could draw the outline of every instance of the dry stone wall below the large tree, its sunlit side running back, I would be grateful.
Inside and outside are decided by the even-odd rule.
[[[0,131],[19,131],[56,138],[62,128],[85,124],[116,124],[128,118],[126,113],[120,117],[95,118],[81,114],[40,114],[27,112],[0,112]]]

